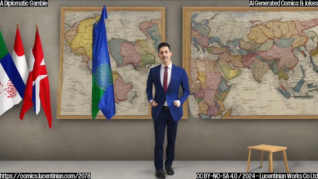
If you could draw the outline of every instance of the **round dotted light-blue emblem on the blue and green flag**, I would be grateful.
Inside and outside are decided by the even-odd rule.
[[[106,90],[109,85],[113,84],[113,74],[110,66],[107,63],[100,64],[93,73],[93,79],[98,87]]]

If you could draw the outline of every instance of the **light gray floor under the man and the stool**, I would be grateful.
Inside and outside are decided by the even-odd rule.
[[[166,178],[196,178],[197,172],[242,172],[247,161],[174,161],[175,175]],[[250,172],[268,172],[268,161],[251,161]],[[288,161],[290,172],[317,172],[318,161]],[[92,179],[155,179],[153,161],[0,161],[0,173],[91,173]],[[165,171],[164,171],[165,172]],[[273,161],[273,172],[286,172],[284,161]],[[165,173],[166,174],[166,173]]]

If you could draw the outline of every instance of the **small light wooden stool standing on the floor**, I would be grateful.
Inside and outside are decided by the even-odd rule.
[[[270,146],[270,145],[259,145],[259,146],[251,146],[247,147],[250,149],[250,152],[248,154],[248,161],[247,161],[247,169],[246,173],[248,173],[248,169],[250,168],[250,160],[251,160],[251,150],[256,149],[256,150],[261,150],[262,151],[262,156],[260,159],[260,168],[262,168],[262,161],[263,161],[263,152],[267,151],[268,152],[268,165],[269,165],[269,173],[273,173],[273,152],[277,151],[283,151],[283,157],[284,157],[284,162],[285,162],[285,167],[286,167],[286,172],[289,173],[289,168],[288,168],[288,163],[287,163],[287,158],[286,158],[286,149],[287,147],[279,147],[279,146]]]

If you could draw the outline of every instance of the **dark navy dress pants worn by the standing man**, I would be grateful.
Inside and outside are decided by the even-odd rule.
[[[155,168],[163,169],[163,142],[167,126],[166,161],[164,165],[172,165],[175,158],[175,141],[178,121],[174,121],[169,109],[162,109],[159,117],[154,121],[155,128]]]

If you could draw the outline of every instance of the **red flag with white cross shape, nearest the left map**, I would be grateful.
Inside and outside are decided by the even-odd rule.
[[[37,32],[33,49],[31,50],[29,63],[29,76],[26,82],[23,105],[20,112],[20,119],[23,119],[24,114],[32,105],[36,114],[40,111],[40,103],[42,104],[49,127],[52,127],[52,114],[50,102],[50,87],[49,78],[47,76],[41,40]]]

